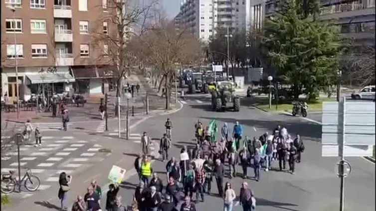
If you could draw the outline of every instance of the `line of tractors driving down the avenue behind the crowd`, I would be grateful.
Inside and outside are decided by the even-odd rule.
[[[193,72],[186,70],[179,77],[180,88],[188,86],[188,94],[205,93],[211,94],[211,109],[216,112],[240,110],[240,98],[235,93],[236,84],[225,81],[221,76],[213,73]]]

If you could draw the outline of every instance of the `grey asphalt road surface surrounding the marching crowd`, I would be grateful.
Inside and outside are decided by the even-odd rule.
[[[232,127],[235,121],[239,121],[244,127],[244,135],[250,137],[260,136],[265,131],[271,131],[280,124],[295,136],[299,133],[306,145],[302,163],[297,165],[296,174],[286,172],[261,172],[260,182],[247,180],[255,192],[257,199],[257,211],[334,211],[339,209],[339,185],[336,176],[336,163],[338,158],[321,157],[321,126],[302,119],[284,114],[267,113],[254,108],[242,107],[240,112],[212,112],[209,102],[193,99],[187,100],[184,108],[169,117],[173,122],[174,147],[171,154],[179,157],[180,148],[183,145],[192,146],[194,138],[193,125],[200,119],[207,124],[215,118],[220,127],[223,122],[228,122]],[[167,116],[166,116],[167,117]],[[159,130],[164,132],[163,124],[166,117],[149,119],[142,128]],[[345,211],[375,209],[375,166],[362,158],[349,158],[352,166],[352,174],[346,178],[346,206]],[[157,161],[153,164],[154,170],[166,184],[165,163]],[[277,164],[274,163],[276,168]],[[240,172],[240,168],[237,168]],[[248,176],[253,176],[249,169]],[[225,182],[229,180],[226,179]],[[236,177],[230,180],[236,193],[239,192],[242,179]],[[123,196],[124,204],[130,205],[132,194],[138,178],[133,176],[123,185],[119,194]],[[212,183],[212,192],[217,193],[215,182]],[[205,203],[197,205],[198,211],[221,210],[222,199],[214,196],[206,196]],[[241,210],[239,207],[234,211]]]

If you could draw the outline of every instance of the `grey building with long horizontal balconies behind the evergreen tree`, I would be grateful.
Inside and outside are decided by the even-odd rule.
[[[276,0],[265,2],[265,16],[273,15]],[[335,20],[346,38],[357,45],[375,46],[375,0],[321,0],[320,18]]]

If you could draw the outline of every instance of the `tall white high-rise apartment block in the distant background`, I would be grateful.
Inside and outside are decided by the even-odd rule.
[[[220,30],[245,31],[261,27],[262,0],[183,0],[179,25],[208,41]],[[226,30],[223,30],[224,32]]]

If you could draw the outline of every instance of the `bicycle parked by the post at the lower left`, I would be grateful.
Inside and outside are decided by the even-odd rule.
[[[32,175],[31,169],[26,169],[21,181],[18,181],[14,176],[14,171],[9,171],[9,174],[1,175],[1,193],[10,194],[15,191],[15,187],[18,187],[18,191],[21,192],[21,184],[26,188],[26,190],[33,192],[36,191],[40,186],[40,179],[37,176]],[[31,184],[31,186],[29,186]],[[32,186],[35,185],[35,186]]]

